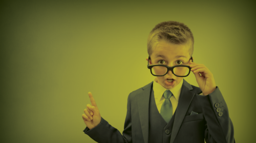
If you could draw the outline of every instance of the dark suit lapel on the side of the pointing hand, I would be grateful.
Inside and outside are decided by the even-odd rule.
[[[138,96],[137,103],[139,109],[139,117],[140,117],[140,124],[142,129],[142,134],[144,138],[144,142],[148,142],[148,112],[149,112],[149,105],[150,105],[150,92],[152,88],[153,82],[150,84],[145,85],[142,88],[142,95]]]

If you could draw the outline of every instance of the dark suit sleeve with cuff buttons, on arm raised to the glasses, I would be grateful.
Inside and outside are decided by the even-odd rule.
[[[198,97],[206,120],[205,141],[207,143],[235,142],[233,124],[229,118],[227,104],[219,88],[216,87],[215,91],[209,95],[198,95]],[[219,108],[219,112],[217,108]]]

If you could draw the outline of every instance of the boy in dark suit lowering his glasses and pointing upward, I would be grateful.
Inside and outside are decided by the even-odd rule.
[[[100,116],[90,92],[84,133],[97,142],[235,142],[226,102],[209,69],[193,62],[193,46],[185,24],[157,24],[146,59],[156,78],[128,96],[123,135]],[[199,88],[183,79],[190,71]]]

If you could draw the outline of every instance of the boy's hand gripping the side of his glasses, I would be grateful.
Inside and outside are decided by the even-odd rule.
[[[216,83],[214,75],[203,64],[196,64],[189,61],[189,67],[195,74],[199,88],[203,92],[203,95],[208,95],[216,89]],[[201,75],[200,75],[201,74]]]

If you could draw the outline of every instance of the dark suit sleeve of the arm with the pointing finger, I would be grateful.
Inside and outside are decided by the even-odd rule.
[[[131,95],[131,94],[130,94]],[[124,122],[123,135],[114,127],[112,127],[107,121],[101,117],[99,125],[91,130],[86,127],[83,132],[89,135],[97,142],[132,142],[132,118],[131,118],[131,104],[130,95],[127,102],[127,113]]]

